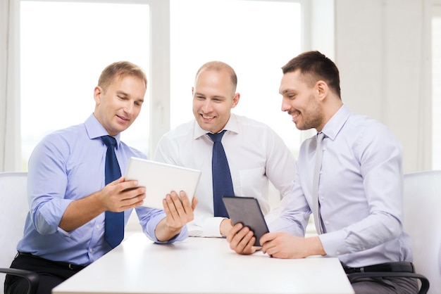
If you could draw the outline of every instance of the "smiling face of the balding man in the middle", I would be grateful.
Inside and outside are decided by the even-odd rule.
[[[240,95],[235,94],[226,70],[202,70],[192,89],[193,114],[201,129],[216,134],[230,119]]]

